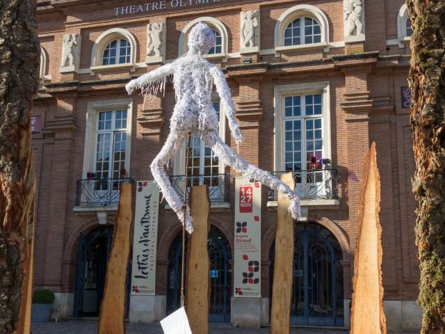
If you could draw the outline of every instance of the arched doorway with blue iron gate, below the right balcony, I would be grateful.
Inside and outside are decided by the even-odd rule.
[[[274,258],[275,242],[270,250],[270,295]],[[296,223],[291,324],[343,326],[340,261],[341,246],[330,230],[316,223]]]

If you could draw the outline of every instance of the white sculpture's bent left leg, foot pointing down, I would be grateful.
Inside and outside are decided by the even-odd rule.
[[[154,180],[161,188],[163,197],[168,202],[168,205],[173,209],[174,212],[179,217],[181,223],[184,224],[184,202],[181,201],[175,188],[173,188],[170,180],[168,180],[168,175],[165,173],[164,167],[168,164],[168,161],[175,156],[176,151],[181,148],[186,142],[188,137],[188,132],[175,131],[172,129],[170,134],[161,149],[161,152],[154,158],[152,165],[152,175]],[[193,232],[192,218],[190,216],[190,210],[186,207],[186,220],[185,220],[186,230],[188,233]]]

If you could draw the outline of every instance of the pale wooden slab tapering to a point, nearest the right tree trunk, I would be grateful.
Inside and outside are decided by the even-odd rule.
[[[380,176],[375,143],[368,150],[360,187],[359,235],[354,258],[353,308],[351,334],[386,334],[383,312],[382,227],[380,212]]]

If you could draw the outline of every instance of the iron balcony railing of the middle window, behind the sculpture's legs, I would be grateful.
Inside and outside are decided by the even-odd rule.
[[[207,184],[209,186],[209,198],[214,202],[229,202],[230,194],[230,174],[202,174],[188,175],[186,199],[190,193],[191,186]],[[170,176],[173,188],[179,194],[181,200],[184,200],[184,187],[186,182],[185,175]]]

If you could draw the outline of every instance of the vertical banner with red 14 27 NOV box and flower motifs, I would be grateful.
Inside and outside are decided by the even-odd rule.
[[[235,179],[234,297],[261,297],[261,184]]]

